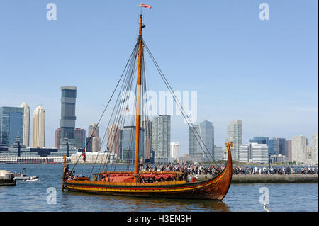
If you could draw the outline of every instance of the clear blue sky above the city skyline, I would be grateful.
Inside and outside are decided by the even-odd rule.
[[[47,21],[55,3],[57,21]],[[0,106],[46,111],[46,146],[60,126],[60,86],[77,86],[77,127],[95,123],[138,35],[140,1],[0,2]],[[269,4],[269,21],[259,4]],[[226,125],[257,135],[318,132],[318,1],[143,1],[143,37],[174,90],[198,92],[198,121],[216,145]],[[152,78],[151,84],[163,90]],[[158,75],[154,74],[158,77]],[[152,89],[152,86],[150,86]],[[32,123],[32,121],[31,121]],[[101,125],[103,132],[103,125]],[[172,142],[188,152],[189,131],[172,118]]]

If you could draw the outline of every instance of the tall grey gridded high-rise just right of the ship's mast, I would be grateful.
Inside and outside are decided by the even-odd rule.
[[[159,115],[152,120],[152,150],[155,162],[158,158],[169,158],[171,148],[171,116]]]

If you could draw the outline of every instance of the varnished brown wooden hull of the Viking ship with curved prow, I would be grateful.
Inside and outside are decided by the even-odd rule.
[[[145,198],[185,198],[223,200],[233,175],[233,164],[228,145],[228,162],[223,171],[211,179],[198,182],[169,181],[158,183],[128,183],[89,181],[89,179],[65,181],[68,191],[137,196]],[[113,172],[114,173],[114,172]],[[133,175],[133,174],[132,174]],[[118,176],[121,177],[121,176]]]

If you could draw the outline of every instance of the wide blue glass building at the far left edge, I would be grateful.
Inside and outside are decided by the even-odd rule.
[[[23,108],[0,108],[0,146],[9,147],[16,140],[16,136],[23,135],[23,114]]]

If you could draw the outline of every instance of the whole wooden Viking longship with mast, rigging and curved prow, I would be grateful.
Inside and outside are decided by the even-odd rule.
[[[191,179],[191,176],[187,175],[185,171],[161,171],[159,169],[157,171],[145,171],[145,169],[142,169],[141,167],[141,152],[143,152],[145,149],[145,147],[141,147],[142,142],[144,142],[145,146],[150,145],[150,140],[147,140],[147,134],[150,134],[150,129],[147,128],[147,126],[143,128],[143,125],[141,125],[141,119],[145,120],[149,116],[147,114],[147,101],[141,101],[142,94],[145,94],[147,90],[147,86],[145,84],[147,78],[145,75],[145,49],[152,58],[152,61],[154,62],[155,67],[160,74],[160,77],[164,81],[164,84],[167,86],[170,94],[172,94],[172,97],[179,110],[181,111],[181,114],[184,116],[187,124],[189,125],[191,132],[194,133],[194,137],[196,137],[199,147],[201,147],[206,157],[212,157],[212,153],[209,151],[208,147],[206,147],[206,144],[203,142],[201,135],[199,135],[198,131],[194,129],[194,125],[191,123],[189,116],[184,111],[183,106],[181,106],[179,98],[177,98],[177,96],[174,94],[172,86],[169,85],[167,78],[162,73],[162,70],[159,69],[155,58],[152,56],[150,49],[145,43],[145,40],[143,40],[143,28],[145,28],[145,24],[142,23],[141,13],[138,40],[125,66],[124,72],[120,80],[118,81],[118,84],[116,85],[116,89],[113,91],[113,94],[110,98],[111,101],[113,96],[115,96],[115,94],[118,92],[118,98],[116,98],[114,108],[113,110],[111,110],[112,113],[108,123],[108,128],[113,129],[108,130],[107,138],[104,139],[106,137],[104,136],[102,140],[102,144],[104,140],[107,140],[106,151],[101,151],[103,145],[101,145],[99,150],[99,152],[102,153],[113,152],[118,154],[118,137],[123,135],[120,134],[121,129],[124,128],[125,122],[126,125],[133,125],[130,127],[129,130],[130,136],[132,138],[130,140],[129,147],[135,146],[135,148],[133,149],[134,152],[132,151],[132,154],[134,154],[134,171],[130,171],[129,167],[126,171],[116,171],[116,164],[110,164],[108,160],[100,159],[98,161],[100,163],[99,169],[96,169],[96,173],[93,173],[94,168],[97,168],[97,164],[95,164],[94,162],[90,175],[86,177],[78,177],[77,179],[70,179],[68,176],[69,172],[74,172],[74,167],[77,165],[77,163],[83,161],[84,157],[86,157],[84,149],[84,151],[82,152],[83,156],[79,156],[79,159],[77,159],[77,163],[73,164],[73,169],[69,169],[69,165],[64,162],[62,189],[66,191],[111,194],[118,196],[140,196],[147,198],[223,200],[226,193],[228,192],[230,181],[232,179],[233,165],[230,147],[233,146],[233,142],[225,144],[228,153],[228,160],[227,162],[225,162],[225,166],[220,168],[218,174],[215,174],[213,176],[204,176],[201,179],[198,179],[198,177],[197,179],[193,177]],[[120,84],[121,89],[118,89]],[[132,87],[134,86],[134,109],[132,109],[131,107],[128,107],[128,102],[126,101],[128,96],[125,96],[123,98],[123,92],[125,93],[125,91],[132,89]],[[101,118],[106,112],[110,101],[108,101],[108,104],[106,105]],[[132,111],[134,112],[134,114],[129,115],[128,113]],[[101,122],[101,118],[99,120],[99,123]],[[128,121],[130,124],[128,123]],[[97,124],[99,125],[99,123]],[[89,140],[91,140],[91,138],[92,136],[89,137]],[[124,149],[123,144],[121,148]],[[130,153],[131,152],[125,152],[126,157],[130,156]],[[83,159],[80,159],[82,157]],[[146,157],[144,158],[146,159]],[[97,159],[98,157],[96,156],[96,161]],[[131,159],[133,159],[133,157]],[[145,183],[145,181],[147,181],[147,183]]]

